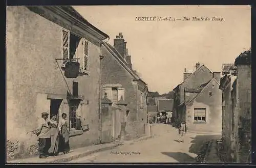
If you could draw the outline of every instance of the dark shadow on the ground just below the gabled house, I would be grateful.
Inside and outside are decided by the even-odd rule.
[[[195,138],[192,138],[193,140],[190,142],[192,145],[189,147],[189,152],[199,155],[206,142],[220,138],[221,135],[197,135]]]

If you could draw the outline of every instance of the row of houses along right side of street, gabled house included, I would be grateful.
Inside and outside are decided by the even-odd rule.
[[[183,75],[173,90],[176,123],[185,121],[188,131],[221,134],[225,162],[250,162],[251,49],[234,64],[223,64],[222,76],[200,63]]]

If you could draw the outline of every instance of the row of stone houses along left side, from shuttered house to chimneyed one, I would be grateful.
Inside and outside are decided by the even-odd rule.
[[[43,111],[67,114],[71,148],[114,141],[123,122],[131,138],[146,132],[147,84],[132,68],[122,33],[110,45],[70,6],[6,12],[7,158],[35,152],[31,131]]]

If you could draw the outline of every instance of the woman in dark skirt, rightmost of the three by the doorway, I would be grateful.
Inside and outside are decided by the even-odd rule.
[[[67,114],[62,113],[61,119],[59,121],[59,133],[60,133],[60,152],[64,154],[69,153],[69,124],[67,121]]]

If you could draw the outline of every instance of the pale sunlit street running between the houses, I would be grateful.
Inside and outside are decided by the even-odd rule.
[[[155,135],[153,138],[94,153],[70,162],[195,162],[198,147],[202,142],[217,136],[186,133],[185,142],[179,143],[176,141],[179,137],[178,130],[171,125],[153,125],[152,132]]]

